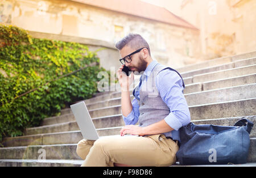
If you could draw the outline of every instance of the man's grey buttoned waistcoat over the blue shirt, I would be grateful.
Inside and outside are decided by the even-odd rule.
[[[156,85],[155,85],[156,75],[158,75],[160,71],[167,68],[174,70],[170,67],[161,65],[160,63],[156,64],[154,69],[151,71],[150,77],[148,77],[147,81],[142,84],[141,90],[139,90],[139,85],[134,88],[134,92],[139,90],[139,96],[140,96],[139,97],[140,99],[137,99],[139,104],[139,113],[140,113],[139,126],[144,127],[144,126],[154,124],[155,122],[159,122],[160,120],[163,120],[166,116],[168,116],[170,113],[170,109],[160,97],[158,88],[156,88]],[[185,87],[184,82],[183,82],[183,87]],[[171,132],[166,132],[163,134],[166,137],[172,136]]]

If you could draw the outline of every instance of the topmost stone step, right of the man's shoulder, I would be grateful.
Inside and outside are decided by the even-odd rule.
[[[256,52],[250,52],[250,53],[245,53],[245,54],[238,54],[236,56],[220,57],[220,58],[216,58],[213,60],[195,63],[192,65],[187,65],[187,66],[181,67],[176,70],[179,71],[179,73],[184,73],[184,72],[191,71],[191,70],[203,69],[203,68],[210,67],[210,66],[222,65],[225,63],[233,62],[233,61],[243,60],[243,59],[247,59],[247,58],[254,58],[254,57],[256,57]]]

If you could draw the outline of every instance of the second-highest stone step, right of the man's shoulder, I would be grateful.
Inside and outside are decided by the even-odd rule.
[[[225,64],[217,65],[217,66],[210,66],[210,67],[207,67],[204,69],[187,71],[185,73],[180,73],[180,75],[181,75],[181,77],[186,78],[186,77],[192,77],[193,75],[205,74],[205,73],[210,73],[210,72],[214,72],[214,71],[233,69],[233,68],[237,68],[237,67],[243,67],[243,66],[249,66],[249,65],[255,65],[255,64],[256,64],[256,57],[245,59],[245,60],[238,60],[238,61],[225,63]]]

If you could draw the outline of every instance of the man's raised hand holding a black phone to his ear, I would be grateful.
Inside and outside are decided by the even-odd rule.
[[[129,76],[127,76],[127,74]],[[117,77],[122,91],[129,91],[129,86],[133,83],[134,74],[128,67],[122,65],[117,71]]]

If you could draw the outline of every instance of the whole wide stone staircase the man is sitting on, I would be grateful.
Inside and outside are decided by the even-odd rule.
[[[177,71],[186,85],[184,96],[192,122],[234,125],[248,118],[256,124],[256,52],[217,58]],[[120,92],[103,92],[85,103],[101,137],[119,134],[124,125]],[[248,163],[238,166],[256,166],[255,126],[250,137]],[[81,139],[71,109],[63,109],[60,116],[45,118],[42,126],[27,128],[24,136],[5,138],[0,166],[80,166],[83,160],[76,154],[76,145]]]

